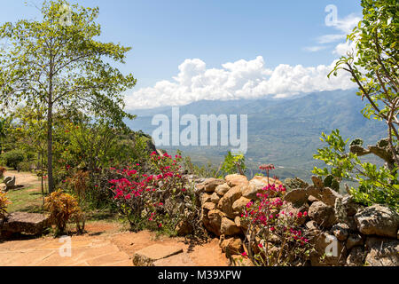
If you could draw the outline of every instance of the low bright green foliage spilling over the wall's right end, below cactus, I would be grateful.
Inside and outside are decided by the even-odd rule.
[[[322,141],[328,146],[318,149],[314,158],[324,161],[330,167],[329,169],[315,167],[312,171],[314,174],[325,176],[325,184],[330,185],[333,184],[333,180],[355,181],[358,187],[348,188],[348,193],[364,205],[379,203],[399,209],[399,182],[396,168],[389,170],[385,166],[378,167],[371,162],[361,162],[356,154],[350,152],[347,154],[348,140],[344,141],[340,137],[339,130],[333,130],[330,135],[322,133],[322,136]]]

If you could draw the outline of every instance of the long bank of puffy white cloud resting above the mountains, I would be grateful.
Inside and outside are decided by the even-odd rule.
[[[240,59],[221,68],[207,69],[200,59],[185,59],[171,81],[160,81],[153,87],[133,91],[126,97],[129,110],[157,106],[183,106],[201,99],[287,98],[301,92],[347,90],[354,87],[349,75],[327,78],[330,66],[303,67],[280,64],[265,67],[262,56]]]

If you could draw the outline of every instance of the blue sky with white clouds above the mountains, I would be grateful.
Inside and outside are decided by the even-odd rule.
[[[183,79],[176,81],[173,77],[178,76],[179,72],[183,73],[181,77],[185,78],[188,75],[189,78],[186,79],[194,82],[196,79],[192,78],[198,77],[199,74],[203,75],[206,70],[215,68],[220,71],[219,73],[226,71],[222,66],[228,62],[243,60],[241,63],[246,67],[248,67],[246,63],[251,60],[254,61],[254,65],[262,64],[262,67],[255,68],[257,71],[250,71],[251,75],[248,75],[246,69],[246,75],[243,75],[244,71],[241,70],[241,74],[235,77],[233,75],[233,79],[230,75],[221,79],[220,83],[224,85],[229,80],[233,80],[235,87],[231,89],[229,81],[230,85],[228,83],[227,87],[215,91],[215,99],[237,99],[244,96],[237,94],[237,91],[247,90],[244,85],[253,81],[251,76],[256,77],[259,82],[270,79],[272,73],[262,70],[275,71],[275,68],[281,65],[328,67],[334,59],[339,57],[340,54],[335,49],[337,44],[343,43],[344,40],[332,41],[334,38],[332,36],[330,40],[323,41],[323,36],[341,35],[342,27],[346,22],[361,17],[358,0],[71,1],[71,3],[76,2],[83,6],[99,7],[98,22],[103,30],[101,36],[103,41],[121,42],[132,47],[126,65],[121,67],[123,72],[133,73],[138,80],[135,90],[130,91],[128,95],[133,97],[136,94],[139,98],[145,99],[146,93],[150,93],[153,97],[163,96],[164,101],[168,101],[168,96],[174,95],[168,94],[164,88],[171,87],[175,88],[172,92],[179,93],[174,98],[175,100],[189,97],[184,100],[184,103],[212,97],[209,90],[215,91],[215,82],[219,82],[217,79],[219,77],[212,75],[213,83],[207,83],[209,75],[202,76],[198,79],[202,82],[198,89],[198,82],[195,86],[192,84],[187,86],[182,83]],[[28,5],[23,0],[0,0],[2,7],[0,22],[38,18],[37,10],[29,3],[40,6],[42,1],[30,0],[27,3]],[[337,7],[338,19],[343,21],[341,27],[325,25],[327,16],[325,7],[328,4],[334,4]],[[259,59],[260,57],[262,59]],[[185,71],[179,71],[178,67],[187,59],[200,61],[186,61],[186,70],[182,67]],[[202,67],[201,62],[206,64],[206,67]],[[242,64],[239,66],[242,67]],[[237,68],[229,69],[228,72],[236,74]],[[194,70],[193,73],[192,70]],[[256,72],[258,74],[254,75]],[[286,72],[292,73],[290,70]],[[306,72],[309,75],[310,71]],[[314,74],[313,71],[311,73]],[[238,82],[237,76],[241,79],[244,76],[245,80]],[[184,82],[187,83],[187,80]],[[293,80],[298,80],[298,77]],[[159,82],[167,83],[167,86],[155,88],[155,84]],[[205,90],[207,88],[208,92]],[[306,91],[306,88],[302,90],[299,87],[298,90],[286,91],[285,88],[270,87],[270,84],[268,88],[270,91],[265,93],[273,92],[278,95],[277,92],[281,90],[281,96]],[[328,89],[327,86],[323,90],[325,89]],[[184,90],[190,94],[185,94]],[[196,93],[192,94],[195,90],[197,90]],[[254,91],[254,88],[251,91]],[[217,95],[219,92],[223,94]],[[253,97],[261,95],[262,91],[258,91],[253,94]]]

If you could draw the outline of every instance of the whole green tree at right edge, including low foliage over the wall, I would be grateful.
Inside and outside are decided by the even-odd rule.
[[[387,204],[399,211],[399,18],[396,0],[362,0],[363,15],[347,40],[356,45],[356,51],[338,60],[330,75],[343,69],[352,75],[357,84],[357,95],[365,98],[362,110],[368,119],[387,123],[387,138],[375,146],[363,147],[363,140],[356,138],[349,146],[348,140],[340,136],[339,130],[332,134],[322,133],[322,141],[328,146],[317,150],[314,158],[324,161],[331,169],[315,169],[313,173],[341,182],[351,180],[357,188],[349,188],[356,201],[364,205]],[[330,76],[329,75],[329,76]],[[385,162],[378,167],[372,162],[362,162],[359,157],[374,154]],[[328,179],[325,179],[325,181]]]

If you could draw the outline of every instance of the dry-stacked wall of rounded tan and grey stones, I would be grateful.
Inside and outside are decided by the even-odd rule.
[[[313,185],[293,183],[301,188],[287,186],[293,189],[284,197],[286,211],[295,215],[309,212],[302,224],[302,230],[313,236],[310,241],[315,250],[309,257],[309,265],[399,265],[399,215],[395,210],[382,205],[364,207],[349,195],[325,187],[318,177],[312,180]],[[273,178],[269,181],[281,184]],[[240,221],[241,212],[266,185],[267,177],[248,181],[236,174],[224,179],[207,178],[195,185],[203,225],[219,237],[221,248],[233,258],[245,249],[247,227]]]

